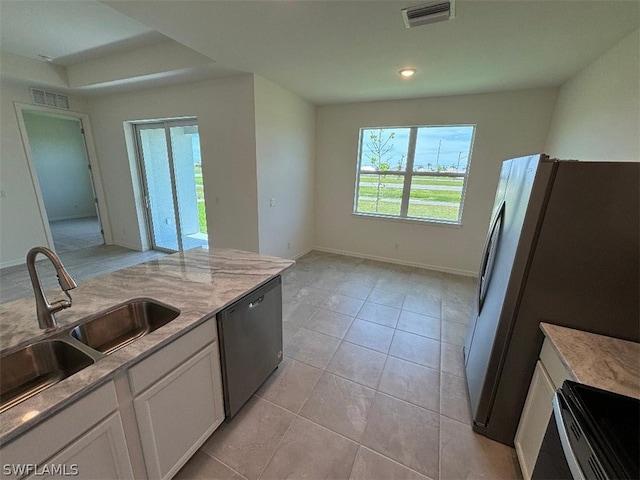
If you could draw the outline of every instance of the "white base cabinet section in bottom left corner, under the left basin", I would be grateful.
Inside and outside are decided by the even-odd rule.
[[[2,447],[3,478],[57,478],[74,471],[74,478],[133,478],[117,408],[114,384],[108,382],[39,423]]]

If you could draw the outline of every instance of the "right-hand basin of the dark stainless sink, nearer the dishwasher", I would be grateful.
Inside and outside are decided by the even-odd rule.
[[[180,310],[148,298],[117,305],[71,331],[71,336],[106,355],[166,325]]]

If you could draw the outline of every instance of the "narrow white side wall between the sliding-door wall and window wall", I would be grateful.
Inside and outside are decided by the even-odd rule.
[[[257,75],[254,89],[260,253],[291,258],[313,245],[315,108]]]

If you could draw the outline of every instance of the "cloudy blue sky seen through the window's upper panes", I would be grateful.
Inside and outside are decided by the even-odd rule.
[[[409,128],[385,128],[383,137],[392,132],[395,137],[389,143],[393,148],[389,152],[387,163],[395,168],[399,161],[406,165],[407,150],[409,147]],[[362,129],[364,141],[364,153],[367,153],[367,145],[370,143],[369,134],[378,134],[378,128]],[[416,154],[414,170],[436,170],[436,165],[445,168],[457,167],[458,171],[465,171],[470,156],[473,140],[473,125],[448,125],[443,127],[419,127],[416,140]],[[404,156],[404,159],[403,159]],[[429,168],[431,164],[431,168]],[[362,166],[371,165],[368,160]]]

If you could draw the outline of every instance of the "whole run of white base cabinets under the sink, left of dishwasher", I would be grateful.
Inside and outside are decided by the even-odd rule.
[[[210,318],[3,445],[1,475],[171,478],[223,422],[223,402]]]

